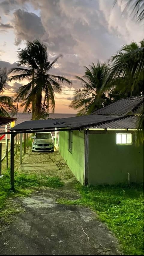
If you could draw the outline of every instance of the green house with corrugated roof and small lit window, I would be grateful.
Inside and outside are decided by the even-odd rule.
[[[136,146],[143,97],[121,99],[92,115],[59,119],[59,152],[82,185],[143,182],[143,145]],[[64,130],[64,129],[63,129]]]

